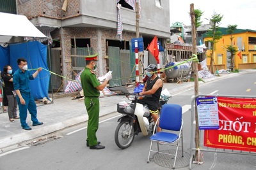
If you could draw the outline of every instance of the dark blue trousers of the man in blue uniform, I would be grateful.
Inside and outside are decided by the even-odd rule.
[[[22,127],[26,127],[26,126],[28,126],[28,124],[26,123],[28,111],[31,115],[32,122],[34,122],[34,123],[38,122],[38,120],[36,118],[36,114],[37,114],[36,103],[34,101],[33,96],[31,96],[30,93],[21,93],[21,96],[25,100],[26,104],[21,104],[20,98],[17,97],[19,110],[20,110],[20,124]]]

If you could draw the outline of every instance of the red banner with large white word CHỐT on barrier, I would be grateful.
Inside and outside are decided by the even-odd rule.
[[[256,99],[218,97],[220,129],[204,131],[204,146],[256,152]]]

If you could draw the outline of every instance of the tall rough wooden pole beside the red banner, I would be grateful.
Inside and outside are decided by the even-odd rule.
[[[197,49],[196,49],[196,24],[195,24],[195,11],[194,11],[194,4],[190,4],[190,17],[191,17],[191,29],[192,29],[192,44],[193,44],[193,54],[197,56]],[[198,95],[198,59],[193,60],[193,74],[194,74],[194,81],[195,81],[195,96]],[[198,127],[198,113],[197,113],[197,106],[195,100],[195,121],[196,121],[196,129],[195,129],[195,146],[196,148],[200,147],[200,138],[199,138],[199,127]],[[198,157],[198,151],[196,150],[196,159]],[[197,160],[200,161],[200,160]]]

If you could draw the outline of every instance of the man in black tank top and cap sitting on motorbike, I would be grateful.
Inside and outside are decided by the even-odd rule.
[[[148,73],[148,79],[145,86],[139,95],[148,95],[152,97],[143,98],[139,101],[141,104],[147,104],[148,109],[156,124],[157,118],[159,118],[158,107],[159,99],[163,88],[163,80],[157,76],[157,67],[154,64],[150,64],[146,69]],[[157,127],[157,132],[161,131],[160,127]]]

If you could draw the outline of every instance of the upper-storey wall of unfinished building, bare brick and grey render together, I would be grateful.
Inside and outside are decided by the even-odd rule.
[[[162,0],[162,8],[155,1],[141,0],[140,33],[159,38],[170,38],[169,0]],[[57,27],[105,27],[116,29],[116,1],[72,0],[67,10],[61,10],[63,2],[56,0],[30,0],[20,4],[17,11],[26,15],[33,24]],[[135,11],[121,7],[124,31],[135,32]],[[61,20],[58,22],[56,20]]]

